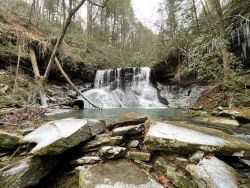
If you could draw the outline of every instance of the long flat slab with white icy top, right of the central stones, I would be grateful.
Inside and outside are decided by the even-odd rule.
[[[150,122],[144,139],[148,150],[171,153],[201,150],[219,155],[249,157],[250,144],[216,129],[185,122]]]

